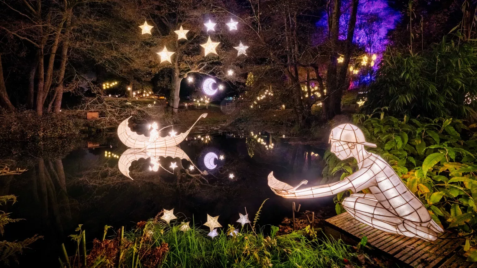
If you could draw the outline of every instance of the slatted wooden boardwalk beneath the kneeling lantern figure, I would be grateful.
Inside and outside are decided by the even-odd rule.
[[[457,254],[464,244],[462,238],[444,233],[436,241],[427,242],[420,238],[411,238],[384,231],[366,225],[354,219],[348,212],[326,220],[339,232],[361,240],[368,238],[368,244],[381,249],[399,263],[415,268],[477,268],[477,263],[469,263]]]

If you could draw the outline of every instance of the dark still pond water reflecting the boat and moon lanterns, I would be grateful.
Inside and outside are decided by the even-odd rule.
[[[296,201],[272,193],[267,186],[270,171],[290,185],[303,179],[309,180],[309,186],[321,181],[322,163],[317,155],[324,153],[327,144],[290,144],[286,137],[260,130],[253,135],[250,130],[206,131],[197,127],[194,131],[177,147],[197,168],[208,172],[203,178],[169,173],[172,163],[178,166],[175,173],[181,167],[190,167],[188,160],[179,158],[158,157],[164,169],[151,171],[148,156],[132,161],[129,170],[134,180],[127,178],[118,168],[118,157],[127,148],[115,134],[5,144],[1,158],[28,170],[0,177],[0,195],[18,196],[17,203],[2,206],[2,210],[11,212],[13,218],[25,219],[7,225],[3,238],[44,237],[24,253],[20,265],[56,267],[61,243],[73,254],[68,235],[78,224],[83,224],[91,245],[94,237],[102,236],[104,225],[129,230],[163,208],[174,208],[179,220],[187,217],[196,226],[205,223],[207,214],[220,215],[219,223],[227,227],[236,224],[239,213],[245,214],[246,210],[253,221],[260,204],[270,198],[259,219],[259,225],[267,231],[270,225],[279,225],[283,217],[291,216],[291,202]],[[219,158],[223,155],[224,159],[212,158],[205,163],[207,154],[215,156],[209,153]],[[197,168],[190,174],[199,174]],[[234,175],[232,179],[230,174]],[[301,199],[300,204],[301,211],[333,206],[332,198]]]

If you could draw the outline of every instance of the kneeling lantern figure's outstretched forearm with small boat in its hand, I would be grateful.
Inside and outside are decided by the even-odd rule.
[[[339,182],[296,190],[297,187],[280,182],[270,173],[269,186],[276,195],[285,198],[314,198],[336,195],[349,189],[355,191],[353,184],[347,177]]]

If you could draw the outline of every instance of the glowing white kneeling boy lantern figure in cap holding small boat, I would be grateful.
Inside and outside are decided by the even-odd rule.
[[[272,191],[285,198],[312,198],[332,196],[342,191],[357,193],[369,188],[372,194],[352,194],[342,205],[355,219],[385,232],[407,237],[420,237],[428,241],[437,239],[436,232],[444,230],[432,220],[421,201],[409,191],[393,168],[379,155],[369,153],[364,145],[363,132],[355,125],[341,124],[330,134],[331,152],[339,159],[354,157],[359,170],[342,181],[297,190],[273,177],[268,177]]]

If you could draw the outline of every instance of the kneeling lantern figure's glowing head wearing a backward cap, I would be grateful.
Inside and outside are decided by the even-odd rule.
[[[331,152],[339,159],[355,157],[363,150],[363,145],[376,147],[366,142],[363,131],[352,124],[341,124],[332,129],[330,134]]]

